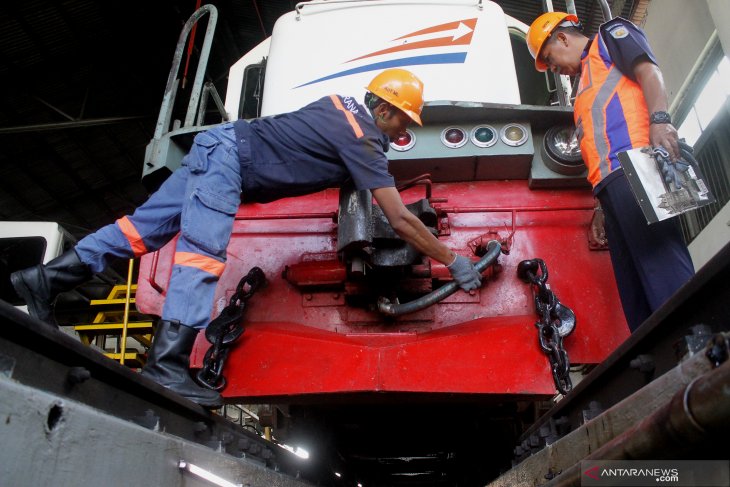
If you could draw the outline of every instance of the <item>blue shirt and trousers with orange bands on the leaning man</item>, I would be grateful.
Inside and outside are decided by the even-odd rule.
[[[134,214],[82,239],[76,253],[101,272],[110,258],[153,252],[179,232],[162,319],[205,328],[241,200],[266,203],[348,179],[357,189],[392,187],[388,147],[370,113],[338,95],[220,125],[195,136],[182,167]]]

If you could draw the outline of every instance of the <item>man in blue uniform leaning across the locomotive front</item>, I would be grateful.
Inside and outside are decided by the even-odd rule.
[[[370,190],[398,235],[446,264],[462,289],[481,284],[470,259],[454,254],[406,209],[388,173],[389,142],[421,124],[423,83],[388,69],[368,85],[365,105],[332,95],[291,113],[238,120],[195,136],[190,152],[134,214],[82,239],[46,265],[18,271],[13,286],[29,312],[55,324],[56,296],[103,271],[113,258],[153,252],[180,234],[162,317],[142,374],[205,407],[216,391],[189,376],[189,356],[210,320],[216,283],[241,201],[269,202],[352,180]]]

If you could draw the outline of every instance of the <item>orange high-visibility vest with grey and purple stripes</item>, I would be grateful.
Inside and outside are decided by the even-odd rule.
[[[620,166],[616,154],[649,145],[649,111],[641,87],[627,78],[608,55],[602,32],[581,61],[573,117],[580,150],[595,188]]]

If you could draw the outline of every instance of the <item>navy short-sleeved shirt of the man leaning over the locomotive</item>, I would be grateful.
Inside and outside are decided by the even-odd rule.
[[[242,199],[266,203],[338,187],[395,185],[388,136],[353,98],[332,95],[290,113],[234,123]]]

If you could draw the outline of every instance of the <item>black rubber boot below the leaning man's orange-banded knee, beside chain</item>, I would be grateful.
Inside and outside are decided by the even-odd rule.
[[[195,328],[177,321],[160,320],[142,375],[205,408],[219,408],[223,399],[190,377],[190,352],[198,336]]]

